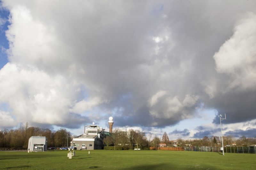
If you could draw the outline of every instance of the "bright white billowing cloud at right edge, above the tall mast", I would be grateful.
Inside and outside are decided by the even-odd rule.
[[[231,77],[228,90],[255,89],[256,15],[247,13],[234,28],[234,34],[213,56],[216,70]]]

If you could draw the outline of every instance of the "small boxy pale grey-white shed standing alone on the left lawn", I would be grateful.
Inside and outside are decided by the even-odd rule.
[[[28,139],[28,151],[47,151],[47,137],[30,137]]]

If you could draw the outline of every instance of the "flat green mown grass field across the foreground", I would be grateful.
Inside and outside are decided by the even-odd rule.
[[[256,169],[255,154],[186,151],[0,152],[0,169]]]

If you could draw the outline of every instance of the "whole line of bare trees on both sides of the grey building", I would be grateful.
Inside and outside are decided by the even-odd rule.
[[[57,131],[38,128],[38,127],[28,127],[28,123],[25,126],[20,126],[17,129],[3,129],[0,131],[0,148],[13,148],[13,149],[27,149],[28,148],[28,139],[31,136],[44,136],[47,137],[48,147],[64,147],[67,144],[70,144],[70,141],[73,137],[70,132],[66,129],[59,129]],[[152,134],[148,134],[146,137],[145,132],[140,130],[131,129],[129,132],[122,131],[119,128],[113,130],[111,136],[107,136],[103,139],[104,144],[108,146],[113,146],[114,150],[116,146],[125,147],[128,149],[140,148],[148,149],[149,147],[158,147],[158,144],[164,143],[166,146],[172,147],[173,141],[169,140],[169,137],[166,132],[164,132],[162,139],[156,135],[152,139]],[[212,136],[212,137],[203,137],[200,140],[182,140],[181,138],[177,139],[178,147],[185,146],[221,146],[221,137]],[[256,137],[247,138],[245,136],[235,139],[232,136],[224,136],[223,144],[236,146],[248,146],[256,144]]]

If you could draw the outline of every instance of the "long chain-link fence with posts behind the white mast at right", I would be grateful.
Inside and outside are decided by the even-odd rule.
[[[215,146],[198,146],[198,147],[184,147],[185,151],[193,152],[222,152],[220,147]],[[224,147],[225,153],[253,153],[256,154],[255,146],[227,146]]]

